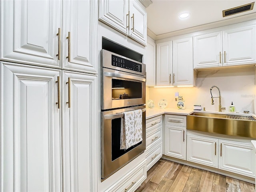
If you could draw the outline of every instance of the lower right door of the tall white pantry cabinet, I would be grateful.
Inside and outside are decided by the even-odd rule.
[[[64,191],[93,188],[93,135],[95,132],[96,76],[62,72],[62,130]],[[70,85],[66,84],[70,78]],[[68,96],[70,86],[70,100]],[[70,108],[68,104],[70,102]]]

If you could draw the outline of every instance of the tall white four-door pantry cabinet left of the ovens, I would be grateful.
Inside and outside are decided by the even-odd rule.
[[[97,191],[97,3],[0,2],[0,191]]]

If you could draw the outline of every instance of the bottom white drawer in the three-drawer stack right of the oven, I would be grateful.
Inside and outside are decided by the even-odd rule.
[[[147,164],[147,171],[154,165],[158,160],[162,157],[163,149],[162,149],[162,142],[158,143],[156,147],[152,148],[146,152],[146,164]]]

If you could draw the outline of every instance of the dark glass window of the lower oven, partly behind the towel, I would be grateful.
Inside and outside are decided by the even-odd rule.
[[[121,146],[121,118],[112,119],[112,126],[111,126],[111,136],[112,136],[112,161],[116,160],[120,156],[126,154],[130,150],[136,148],[142,142],[139,142],[138,144],[131,146],[130,148],[124,150],[120,149]]]

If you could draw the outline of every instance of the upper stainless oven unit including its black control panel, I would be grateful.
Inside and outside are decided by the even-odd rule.
[[[102,110],[146,103],[146,65],[101,50]]]

